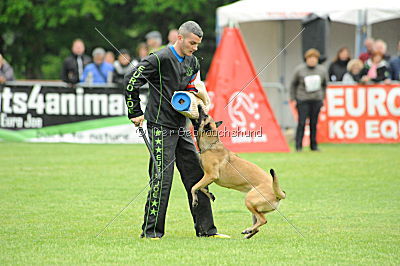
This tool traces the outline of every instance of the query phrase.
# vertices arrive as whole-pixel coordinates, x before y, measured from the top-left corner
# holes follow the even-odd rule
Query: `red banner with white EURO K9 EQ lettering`
[[[400,84],[330,85],[317,138],[333,143],[400,142]]]

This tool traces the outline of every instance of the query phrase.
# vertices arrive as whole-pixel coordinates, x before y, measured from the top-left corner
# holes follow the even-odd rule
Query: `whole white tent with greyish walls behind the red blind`
[[[282,118],[285,112],[282,102],[287,101],[287,95],[282,96],[282,91],[287,94],[292,71],[302,62],[301,35],[297,38],[295,36],[301,31],[301,20],[310,13],[328,15],[332,21],[325,65],[332,61],[343,46],[348,47],[353,56],[358,54],[362,33],[385,40],[389,54],[397,53],[397,42],[400,40],[400,1],[242,0],[219,7],[217,34],[222,33],[224,26],[238,25],[257,70],[261,70],[292,41],[259,76],[264,83],[274,82],[277,87],[281,84],[286,88],[266,88],[271,105],[283,126],[287,122]]]

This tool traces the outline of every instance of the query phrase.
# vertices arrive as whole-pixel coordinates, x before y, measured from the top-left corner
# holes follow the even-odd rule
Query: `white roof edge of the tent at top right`
[[[400,18],[400,1],[395,0],[242,0],[217,9],[218,26],[229,21],[299,20],[309,13],[328,14],[332,21],[357,25],[359,11],[366,11],[367,24]]]

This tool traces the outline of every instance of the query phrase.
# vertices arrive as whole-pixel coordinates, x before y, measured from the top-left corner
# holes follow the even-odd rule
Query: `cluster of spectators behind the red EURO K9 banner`
[[[351,84],[390,83],[392,80],[400,80],[400,41],[397,56],[390,56],[387,53],[387,45],[383,40],[369,38],[365,40],[364,45],[367,51],[354,59],[351,59],[347,47],[339,49],[329,65],[330,81]]]

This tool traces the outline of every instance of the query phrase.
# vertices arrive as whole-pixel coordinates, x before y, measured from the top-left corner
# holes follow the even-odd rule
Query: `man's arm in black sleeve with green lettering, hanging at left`
[[[125,75],[124,78],[128,117],[135,125],[141,125],[143,121],[143,111],[140,108],[139,88],[146,84],[152,75],[157,73],[157,68],[150,63],[152,57],[153,55],[142,60],[129,74]],[[149,88],[150,87],[151,86],[149,86]]]

